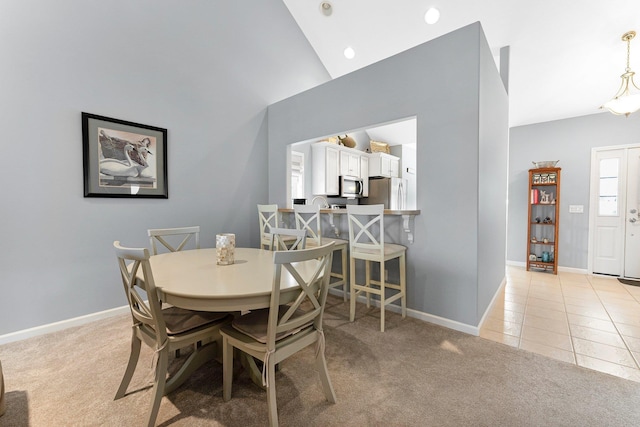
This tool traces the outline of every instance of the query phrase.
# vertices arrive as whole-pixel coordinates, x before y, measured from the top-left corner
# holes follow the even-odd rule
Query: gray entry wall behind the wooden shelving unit
[[[594,106],[594,110],[597,107]],[[527,254],[528,170],[532,161],[560,160],[559,267],[586,269],[589,237],[591,149],[640,143],[638,116],[599,113],[510,130],[507,260],[524,263]],[[583,214],[569,205],[584,205]]]

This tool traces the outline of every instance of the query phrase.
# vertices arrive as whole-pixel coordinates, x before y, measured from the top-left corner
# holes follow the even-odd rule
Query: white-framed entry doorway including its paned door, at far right
[[[591,158],[589,271],[640,279],[640,145]]]

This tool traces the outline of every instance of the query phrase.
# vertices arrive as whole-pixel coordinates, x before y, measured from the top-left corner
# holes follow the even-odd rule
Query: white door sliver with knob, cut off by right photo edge
[[[640,148],[627,153],[624,277],[640,279]]]

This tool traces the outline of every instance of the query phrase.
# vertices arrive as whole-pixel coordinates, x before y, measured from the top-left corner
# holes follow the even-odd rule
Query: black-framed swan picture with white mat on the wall
[[[84,197],[169,197],[167,130],[82,113]]]

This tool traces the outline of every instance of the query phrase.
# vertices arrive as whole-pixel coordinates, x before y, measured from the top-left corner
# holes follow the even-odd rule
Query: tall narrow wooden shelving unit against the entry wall
[[[527,271],[558,274],[561,168],[529,169]]]

